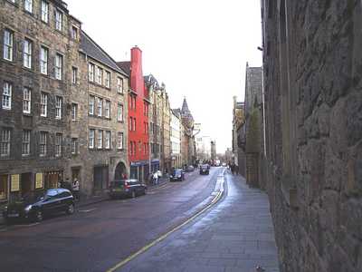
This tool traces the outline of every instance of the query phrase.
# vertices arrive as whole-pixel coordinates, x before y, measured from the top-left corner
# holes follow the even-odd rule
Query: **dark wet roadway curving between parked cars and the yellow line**
[[[0,231],[0,271],[106,271],[185,221],[214,190],[223,168],[198,171],[136,199],[105,201],[72,216]],[[150,270],[157,271],[157,270]]]

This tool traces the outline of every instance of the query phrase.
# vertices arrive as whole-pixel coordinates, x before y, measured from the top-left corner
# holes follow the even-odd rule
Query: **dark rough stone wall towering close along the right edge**
[[[262,0],[281,271],[362,271],[362,2]]]

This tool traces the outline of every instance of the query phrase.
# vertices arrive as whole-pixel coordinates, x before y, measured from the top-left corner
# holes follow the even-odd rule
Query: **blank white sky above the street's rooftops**
[[[143,52],[143,73],[165,83],[171,108],[186,100],[217,152],[232,146],[233,95],[245,64],[262,65],[260,0],[65,0],[82,29],[116,61]]]

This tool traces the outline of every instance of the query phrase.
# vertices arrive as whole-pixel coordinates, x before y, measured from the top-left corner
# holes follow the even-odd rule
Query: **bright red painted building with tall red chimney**
[[[147,180],[149,95],[142,73],[142,51],[135,46],[130,53],[130,62],[118,63],[123,71],[129,73],[129,177]]]

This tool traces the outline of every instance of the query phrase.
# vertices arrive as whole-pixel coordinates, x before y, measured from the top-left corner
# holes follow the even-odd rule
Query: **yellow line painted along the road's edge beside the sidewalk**
[[[129,257],[125,258],[124,260],[120,261],[116,266],[111,267],[110,269],[107,270],[107,272],[114,272],[117,269],[119,269],[120,267],[123,267],[124,265],[126,265],[129,261],[131,261],[132,259],[134,259],[135,257],[138,257],[140,254],[146,252],[149,248],[152,248],[153,246],[155,246],[157,243],[161,242],[162,240],[166,239],[169,235],[171,235],[172,233],[174,233],[176,230],[184,227],[185,225],[187,225],[188,223],[190,223],[192,220],[194,220],[195,218],[199,217],[200,215],[202,215],[203,213],[205,213],[205,211],[207,209],[210,209],[211,207],[214,206],[214,204],[216,204],[216,202],[218,200],[221,199],[223,195],[223,192],[218,191],[216,196],[214,197],[214,199],[211,201],[210,204],[208,204],[204,209],[201,209],[200,211],[198,211],[197,213],[195,213],[195,215],[193,215],[191,218],[186,219],[186,221],[184,223],[182,223],[181,225],[176,226],[175,228],[172,228],[170,231],[168,231],[167,233],[165,233],[164,235],[160,236],[159,238],[157,238],[156,240],[154,240],[153,242],[149,243],[147,246],[139,249],[137,252],[133,253],[132,255],[130,255]]]

